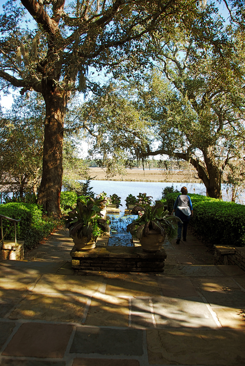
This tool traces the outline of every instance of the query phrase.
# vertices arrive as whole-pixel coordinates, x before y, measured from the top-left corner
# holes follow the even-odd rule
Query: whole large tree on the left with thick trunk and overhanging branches
[[[169,37],[176,24],[202,43],[219,40],[212,30],[215,11],[192,0],[13,0],[0,20],[0,77],[5,86],[35,90],[45,101],[42,180],[38,203],[59,215],[62,184],[64,116],[76,90],[96,91],[88,74],[128,70],[130,60],[147,64],[144,35],[157,31]],[[241,2],[242,4],[242,2]],[[241,5],[236,1],[235,5]],[[28,12],[27,16],[26,11]],[[240,14],[238,14],[239,18]],[[28,20],[30,19],[30,20]],[[217,38],[217,39],[216,39]],[[136,62],[137,63],[137,62]],[[130,72],[130,70],[129,70]],[[3,86],[4,86],[3,85]]]

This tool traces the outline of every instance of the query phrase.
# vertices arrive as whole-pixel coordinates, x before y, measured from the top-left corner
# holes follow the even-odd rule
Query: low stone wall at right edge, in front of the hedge
[[[236,264],[245,271],[245,247],[214,245],[214,264]]]

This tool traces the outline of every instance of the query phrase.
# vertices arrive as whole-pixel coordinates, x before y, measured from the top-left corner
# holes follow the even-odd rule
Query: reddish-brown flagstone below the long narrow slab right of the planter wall
[[[158,284],[162,288],[163,296],[198,296],[191,280],[188,277],[158,277]]]

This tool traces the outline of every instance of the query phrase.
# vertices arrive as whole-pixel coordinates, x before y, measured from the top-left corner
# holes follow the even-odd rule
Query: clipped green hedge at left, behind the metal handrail
[[[42,210],[32,203],[10,202],[0,205],[0,214],[21,221],[16,224],[17,240],[24,240],[24,249],[30,251],[57,226],[57,222],[42,215]],[[3,232],[10,228],[4,239],[14,239],[14,225],[3,219]]]

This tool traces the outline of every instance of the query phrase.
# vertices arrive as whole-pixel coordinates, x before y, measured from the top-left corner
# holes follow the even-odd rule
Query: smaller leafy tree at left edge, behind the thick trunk
[[[45,106],[41,98],[17,97],[0,119],[0,182],[37,193],[42,174]]]

